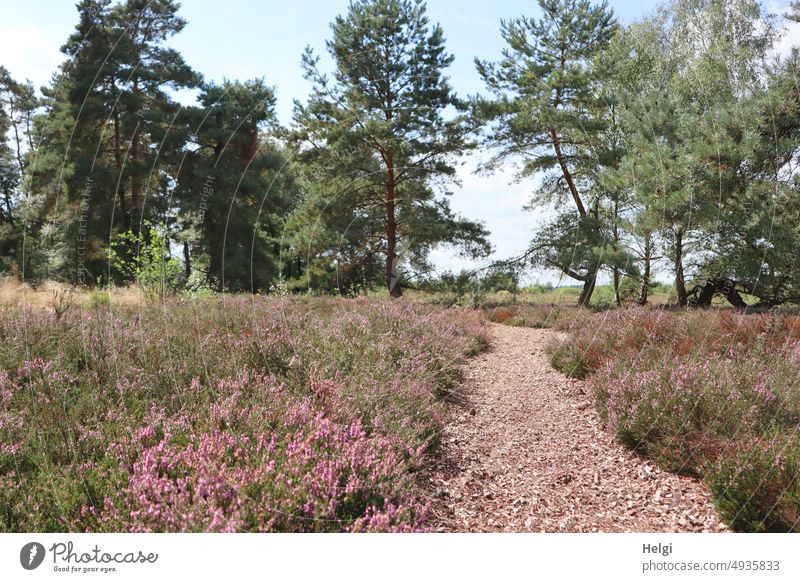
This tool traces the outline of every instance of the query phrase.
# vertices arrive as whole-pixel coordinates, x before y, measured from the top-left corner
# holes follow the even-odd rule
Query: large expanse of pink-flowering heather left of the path
[[[1,531],[424,528],[476,312],[221,296],[0,313]]]

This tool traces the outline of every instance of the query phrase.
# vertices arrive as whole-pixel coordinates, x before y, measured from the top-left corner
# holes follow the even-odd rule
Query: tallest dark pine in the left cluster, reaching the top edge
[[[31,226],[49,256],[45,276],[94,281],[108,271],[110,236],[167,213],[170,156],[188,139],[169,131],[180,109],[170,94],[199,80],[165,46],[185,25],[177,10],[170,0],[78,4],[68,60],[36,120]]]

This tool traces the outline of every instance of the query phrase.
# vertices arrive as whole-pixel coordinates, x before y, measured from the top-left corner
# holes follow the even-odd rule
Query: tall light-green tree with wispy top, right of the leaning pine
[[[681,306],[692,294],[687,281],[713,270],[701,266],[710,266],[705,258],[752,176],[753,97],[763,92],[773,40],[753,0],[675,0],[623,39],[622,165],[633,179],[641,234],[655,227]]]

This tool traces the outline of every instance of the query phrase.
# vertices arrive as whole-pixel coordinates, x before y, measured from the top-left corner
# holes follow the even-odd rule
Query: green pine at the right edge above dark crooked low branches
[[[763,94],[718,114],[714,129],[723,131],[714,135],[724,155],[714,156],[722,166],[715,174],[725,196],[694,289],[697,305],[721,294],[744,307],[741,293],[757,297],[757,307],[800,301],[798,56],[792,51],[768,71]],[[697,128],[698,136],[709,133]]]

